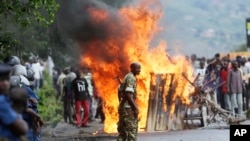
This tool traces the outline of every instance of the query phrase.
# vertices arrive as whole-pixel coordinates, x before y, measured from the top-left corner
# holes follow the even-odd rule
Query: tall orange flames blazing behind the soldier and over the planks
[[[179,86],[175,90],[173,100],[180,97],[183,103],[189,103],[189,84],[182,78],[182,73],[185,72],[191,78],[192,69],[185,57],[180,55],[170,60],[166,54],[165,42],[161,42],[156,47],[150,47],[150,41],[155,33],[161,30],[158,21],[162,16],[161,11],[150,8],[152,4],[155,5],[155,3],[144,3],[121,8],[116,15],[96,7],[87,8],[93,23],[104,23],[107,25],[105,30],[112,35],[100,40],[79,43],[81,47],[87,48],[82,55],[82,64],[92,69],[96,87],[105,102],[104,130],[107,133],[117,132],[119,83],[114,78],[119,76],[123,79],[130,71],[130,63],[134,61],[142,65],[137,87],[140,130],[146,127],[151,73],[178,75],[175,79],[179,82]],[[116,21],[112,20],[114,16]],[[163,108],[166,109],[166,107]],[[171,109],[174,109],[174,106]]]

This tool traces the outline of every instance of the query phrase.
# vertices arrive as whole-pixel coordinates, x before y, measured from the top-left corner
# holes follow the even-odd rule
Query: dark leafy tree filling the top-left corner
[[[46,46],[48,26],[53,23],[59,4],[56,0],[0,1],[0,59],[22,56]]]

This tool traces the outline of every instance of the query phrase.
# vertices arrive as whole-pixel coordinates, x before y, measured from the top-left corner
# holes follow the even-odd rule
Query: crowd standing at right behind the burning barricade
[[[190,58],[195,85],[214,103],[228,110],[231,116],[244,117],[250,107],[250,57],[216,53],[213,58]]]

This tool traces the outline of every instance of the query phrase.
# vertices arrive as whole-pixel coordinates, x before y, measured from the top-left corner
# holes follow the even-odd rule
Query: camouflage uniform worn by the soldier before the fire
[[[136,78],[132,72],[128,73],[124,78],[124,93],[132,92],[134,100],[136,99]],[[138,120],[134,116],[134,110],[129,102],[125,99],[125,95],[122,95],[122,100],[119,104],[118,113],[119,121],[117,130],[119,136],[117,141],[136,141]]]

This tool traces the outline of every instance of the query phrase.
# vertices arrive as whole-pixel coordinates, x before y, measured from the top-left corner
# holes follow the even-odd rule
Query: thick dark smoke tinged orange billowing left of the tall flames
[[[131,25],[117,8],[97,0],[64,0],[58,21],[59,30],[77,43],[81,57],[108,64],[127,58],[124,46]],[[115,42],[107,42],[111,40]]]

